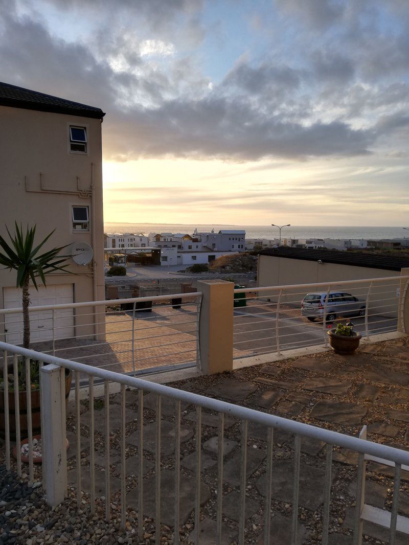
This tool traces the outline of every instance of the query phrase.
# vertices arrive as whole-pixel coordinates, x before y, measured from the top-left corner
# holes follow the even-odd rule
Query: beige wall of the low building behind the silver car
[[[351,265],[338,265],[335,263],[319,264],[315,261],[303,261],[302,259],[290,259],[284,257],[258,256],[257,286],[289,286],[292,284],[313,284],[321,282],[336,282],[345,280],[364,280],[365,278],[399,277],[400,272],[384,269],[371,269],[367,267],[354,267]],[[397,285],[397,284],[396,284]],[[398,303],[399,292],[395,283],[384,282],[371,288],[370,306],[376,312],[396,317],[395,305]],[[341,287],[341,286],[340,286]],[[336,288],[334,288],[336,289]],[[366,297],[368,286],[350,286],[345,289],[352,295]],[[324,288],[320,288],[325,291]],[[283,302],[298,302],[308,293],[308,288],[297,288],[286,292],[282,296]],[[266,298],[273,297],[277,292],[263,292]],[[386,301],[380,301],[380,299]]]

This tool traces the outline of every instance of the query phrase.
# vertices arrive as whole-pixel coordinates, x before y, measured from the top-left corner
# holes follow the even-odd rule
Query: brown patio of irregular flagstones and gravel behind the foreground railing
[[[308,358],[286,359],[274,365],[248,367],[220,376],[195,378],[171,384],[179,389],[202,393],[209,397],[234,402],[245,407],[290,419],[358,435],[364,424],[368,426],[368,439],[409,450],[409,348],[406,338],[383,342],[363,348],[353,356],[338,356],[332,352]],[[119,420],[116,412],[119,396],[112,396],[111,456],[115,456],[110,473],[111,492],[119,498]],[[144,397],[144,471],[145,508],[147,517],[154,517],[154,452],[155,452],[155,396]],[[136,393],[127,392],[127,501],[136,508],[137,459],[139,435],[137,432]],[[174,496],[174,403],[162,403],[161,464],[163,475],[163,523],[173,524]],[[103,413],[95,410],[98,421],[96,446],[99,453],[97,468],[103,475],[104,431]],[[101,414],[101,417],[99,416]],[[240,480],[240,423],[226,415],[224,439],[224,485],[217,490],[219,417],[203,410],[202,418],[202,496],[200,543],[213,543],[216,520],[215,501],[223,494],[223,543],[234,543],[238,534],[238,503]],[[69,419],[69,429],[74,431],[74,419]],[[187,534],[194,528],[194,482],[196,476],[195,433],[196,413],[193,405],[182,405],[181,419],[181,523]],[[89,463],[88,409],[83,403],[81,414],[82,464]],[[74,436],[75,437],[75,436]],[[248,459],[246,487],[246,542],[263,543],[264,494],[266,481],[266,428],[256,424],[248,427]],[[300,460],[299,543],[320,543],[323,479],[326,449],[319,441],[303,439]],[[275,542],[289,543],[291,525],[293,437],[274,431],[273,453],[272,536]],[[70,463],[74,459],[70,458]],[[333,545],[352,543],[354,490],[356,488],[357,456],[334,447],[333,486],[330,512],[330,540]],[[392,477],[390,468],[369,463],[366,472],[366,502],[390,510],[392,502]],[[89,486],[87,472],[83,471],[83,486]],[[70,473],[75,482],[75,468]],[[101,477],[100,481],[103,481]],[[402,474],[400,513],[409,514],[409,475]],[[104,493],[103,482],[98,493]],[[115,498],[115,496],[113,496]],[[114,501],[114,500],[112,500]],[[365,524],[366,543],[387,543],[386,530]],[[280,536],[280,537],[278,537]],[[191,534],[193,539],[193,534]],[[277,541],[278,539],[278,541]],[[398,535],[396,543],[403,545],[408,539]]]

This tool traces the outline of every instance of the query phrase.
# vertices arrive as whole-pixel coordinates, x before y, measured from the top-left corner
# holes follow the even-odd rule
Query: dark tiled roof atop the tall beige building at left
[[[87,106],[79,102],[60,99],[58,96],[38,93],[10,83],[0,82],[0,106],[39,110],[41,112],[64,113],[71,116],[92,117],[102,119],[105,113],[101,108]]]

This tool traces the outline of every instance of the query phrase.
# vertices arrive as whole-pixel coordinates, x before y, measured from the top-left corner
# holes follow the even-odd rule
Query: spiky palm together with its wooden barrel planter
[[[10,271],[17,272],[16,287],[22,290],[22,314],[23,314],[23,347],[30,348],[30,319],[29,305],[30,293],[29,290],[34,287],[38,291],[38,281],[46,286],[46,276],[54,271],[66,271],[67,259],[71,256],[59,255],[60,252],[67,246],[54,247],[51,250],[40,252],[43,246],[47,243],[52,231],[39,244],[35,242],[35,225],[26,231],[23,231],[15,222],[15,233],[12,235],[6,227],[10,238],[10,243],[0,236],[0,265]],[[30,285],[32,282],[32,286]],[[40,422],[40,366],[39,362],[30,360],[28,368],[26,359],[19,356],[17,361],[17,378],[19,389],[19,412],[20,412],[20,437],[24,438],[28,435],[27,422],[27,399],[31,399],[31,416],[32,416],[32,432],[33,435],[41,431]],[[28,379],[28,380],[27,380]],[[8,406],[9,406],[9,429],[10,439],[16,440],[16,417],[15,417],[15,383],[14,383],[14,362],[11,361],[7,365],[7,375],[0,378],[0,388],[4,390],[4,381],[8,384]],[[27,382],[29,381],[29,384]],[[71,386],[71,373],[65,377],[65,397],[68,399]],[[28,393],[30,392],[30,393]],[[0,395],[0,437],[5,437],[5,414],[4,414],[5,396]],[[27,440],[26,440],[27,441]],[[23,443],[24,441],[22,441]]]

